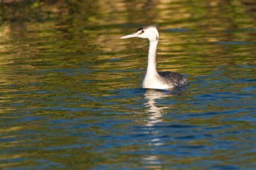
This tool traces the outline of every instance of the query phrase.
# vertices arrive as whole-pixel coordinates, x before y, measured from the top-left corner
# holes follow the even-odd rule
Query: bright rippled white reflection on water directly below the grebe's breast
[[[171,97],[174,94],[170,91],[162,91],[158,89],[147,89],[146,93],[144,94],[145,99],[147,99],[145,105],[149,108],[148,112],[148,119],[146,126],[154,126],[154,124],[158,122],[162,122],[162,116],[164,111],[169,107],[160,107],[157,106],[157,99],[164,99],[166,97]]]

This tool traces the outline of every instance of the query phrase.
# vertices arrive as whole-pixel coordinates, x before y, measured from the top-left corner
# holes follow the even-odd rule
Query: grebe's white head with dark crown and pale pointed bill
[[[129,34],[127,36],[122,36],[121,38],[133,38],[133,37],[139,37],[139,38],[148,38],[150,42],[155,42],[159,38],[158,30],[156,29],[156,26],[145,26],[137,29],[136,32]]]

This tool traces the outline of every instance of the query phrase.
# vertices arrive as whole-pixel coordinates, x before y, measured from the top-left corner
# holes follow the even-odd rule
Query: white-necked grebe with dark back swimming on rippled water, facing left
[[[155,25],[143,26],[134,33],[121,38],[146,38],[150,42],[148,50],[148,65],[145,77],[141,83],[143,89],[174,89],[189,83],[186,77],[171,71],[158,72],[156,68],[156,50],[159,33]]]

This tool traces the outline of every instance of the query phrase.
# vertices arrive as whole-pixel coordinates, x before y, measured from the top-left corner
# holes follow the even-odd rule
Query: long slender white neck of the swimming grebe
[[[158,75],[156,69],[156,48],[158,46],[158,40],[150,42],[150,49],[148,50],[148,67],[146,71],[146,77],[154,77]]]

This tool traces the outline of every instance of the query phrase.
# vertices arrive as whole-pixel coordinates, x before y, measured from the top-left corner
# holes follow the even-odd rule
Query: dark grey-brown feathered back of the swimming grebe
[[[159,72],[158,74],[164,79],[164,81],[166,81],[166,83],[170,83],[174,87],[183,87],[189,83],[189,81],[179,73],[164,71]]]

